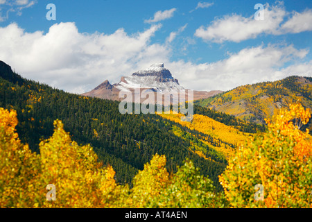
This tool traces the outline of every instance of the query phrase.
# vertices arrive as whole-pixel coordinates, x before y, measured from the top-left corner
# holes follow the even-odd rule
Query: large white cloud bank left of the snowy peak
[[[75,24],[60,23],[44,34],[10,24],[0,28],[0,60],[28,79],[82,93],[105,79],[116,83],[155,61],[167,62],[170,49],[150,44],[159,28],[153,25],[135,35],[119,28],[106,35],[79,33]]]

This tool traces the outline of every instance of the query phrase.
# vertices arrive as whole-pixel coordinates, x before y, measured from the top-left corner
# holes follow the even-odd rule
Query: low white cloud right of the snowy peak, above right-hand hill
[[[167,65],[180,84],[191,89],[229,90],[240,85],[279,80],[287,76],[312,76],[312,61],[300,63],[308,49],[293,45],[263,45],[229,53],[218,62],[194,64],[182,60]],[[287,62],[295,65],[284,67]]]

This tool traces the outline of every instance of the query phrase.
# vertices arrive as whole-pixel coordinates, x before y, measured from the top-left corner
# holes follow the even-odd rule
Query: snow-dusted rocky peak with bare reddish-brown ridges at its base
[[[179,84],[179,81],[171,75],[171,72],[164,68],[164,63],[156,63],[148,67],[147,69],[136,71],[131,76],[123,76],[119,83],[114,85],[110,84],[108,80],[92,89],[90,92],[82,94],[83,96],[92,96],[101,99],[110,99],[121,101],[123,98],[119,98],[120,92],[131,93],[132,101],[135,99],[135,89],[139,89],[139,92],[153,92],[154,99],[141,99],[141,103],[155,103],[157,99],[157,93],[166,95],[177,92],[177,96],[180,96],[180,91],[184,89]],[[187,92],[187,90],[186,90]],[[220,90],[214,91],[196,91],[193,90],[193,100],[205,99],[210,96],[219,94]],[[187,97],[187,96],[186,96]],[[186,98],[188,101],[189,99]]]

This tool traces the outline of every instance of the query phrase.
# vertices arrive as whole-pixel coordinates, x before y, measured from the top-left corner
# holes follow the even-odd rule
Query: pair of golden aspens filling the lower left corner
[[[15,133],[16,112],[0,108],[0,115],[1,207],[116,207],[123,200],[128,187],[116,185],[114,170],[101,167],[91,146],[71,141],[61,121],[37,155]],[[50,184],[55,201],[46,201]]]

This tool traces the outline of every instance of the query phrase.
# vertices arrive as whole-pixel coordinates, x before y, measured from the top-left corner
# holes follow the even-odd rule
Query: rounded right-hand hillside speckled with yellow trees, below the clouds
[[[264,123],[279,108],[301,101],[304,108],[312,108],[312,78],[290,76],[275,82],[264,82],[236,87],[195,104],[239,119]]]

